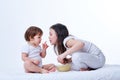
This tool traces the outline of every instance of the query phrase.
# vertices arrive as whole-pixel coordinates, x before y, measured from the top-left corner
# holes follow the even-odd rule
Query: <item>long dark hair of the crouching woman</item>
[[[57,23],[52,25],[50,28],[55,30],[57,35],[57,44],[54,45],[54,51],[57,53],[56,49],[58,50],[58,54],[62,54],[66,51],[66,48],[63,45],[63,40],[69,35],[68,29],[65,25]]]

